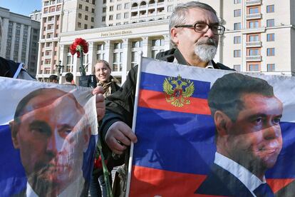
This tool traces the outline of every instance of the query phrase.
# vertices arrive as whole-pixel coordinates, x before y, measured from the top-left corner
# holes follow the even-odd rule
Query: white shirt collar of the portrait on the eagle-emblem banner
[[[227,158],[226,156],[223,156],[220,153],[215,153],[214,163],[224,168],[224,170],[229,171],[229,173],[232,173],[232,175],[234,175],[235,177],[237,177],[239,181],[241,181],[244,184],[244,186],[246,186],[249,189],[253,196],[255,196],[253,191],[256,188],[258,188],[262,183],[266,183],[265,177],[263,177],[263,181],[260,181],[260,179],[253,173],[248,171],[247,168],[244,168],[244,166],[239,165],[239,163],[233,161],[230,158]]]

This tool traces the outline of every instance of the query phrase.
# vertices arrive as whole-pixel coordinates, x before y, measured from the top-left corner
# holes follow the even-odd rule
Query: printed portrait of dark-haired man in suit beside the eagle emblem
[[[274,196],[265,172],[282,148],[283,105],[264,79],[226,74],[208,96],[216,126],[217,152],[195,193],[217,196]]]

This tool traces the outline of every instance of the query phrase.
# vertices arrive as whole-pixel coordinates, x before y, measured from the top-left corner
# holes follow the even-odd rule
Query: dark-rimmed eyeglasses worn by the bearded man
[[[223,35],[225,30],[225,27],[219,24],[205,24],[200,22],[192,25],[176,25],[175,27],[193,28],[196,32],[202,34],[205,34],[209,29],[211,29],[214,35]]]

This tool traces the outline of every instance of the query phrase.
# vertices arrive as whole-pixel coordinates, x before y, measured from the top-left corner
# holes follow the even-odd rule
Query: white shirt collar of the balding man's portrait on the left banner
[[[70,186],[68,186],[63,192],[58,194],[58,197],[63,197],[63,196],[81,196],[83,186],[84,186],[84,178],[81,175],[80,178],[77,178],[76,181],[71,183]],[[80,188],[80,189],[77,189]],[[33,188],[31,188],[29,182],[26,182],[26,197],[39,197],[35,191],[33,191]],[[40,196],[42,197],[42,196]]]

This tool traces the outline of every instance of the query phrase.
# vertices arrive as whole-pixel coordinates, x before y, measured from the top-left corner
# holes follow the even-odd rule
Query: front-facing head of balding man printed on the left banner
[[[16,196],[80,196],[91,128],[75,96],[59,89],[32,91],[19,102],[10,126],[28,181]]]

